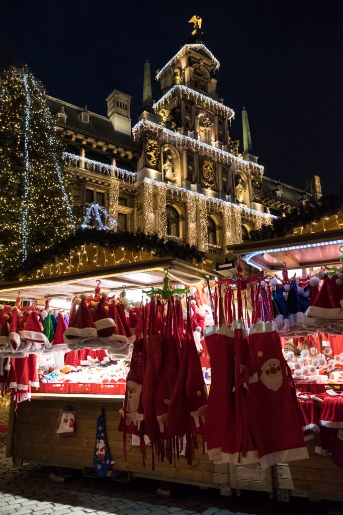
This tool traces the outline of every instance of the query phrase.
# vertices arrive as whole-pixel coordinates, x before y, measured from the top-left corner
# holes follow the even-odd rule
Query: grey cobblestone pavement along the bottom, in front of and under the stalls
[[[0,408],[0,424],[6,424],[7,417]],[[77,472],[65,483],[55,483],[48,477],[53,469],[13,467],[5,457],[6,436],[0,433],[0,515],[343,515],[340,503],[278,503],[262,492],[222,497],[218,490],[185,485],[173,486],[172,497],[178,500],[166,501],[156,497],[160,483],[147,479],[124,484]]]

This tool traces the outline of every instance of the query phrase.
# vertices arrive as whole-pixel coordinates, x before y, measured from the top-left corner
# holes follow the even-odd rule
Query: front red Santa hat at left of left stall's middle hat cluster
[[[81,302],[79,308],[64,332],[64,341],[68,343],[82,342],[96,338],[97,331],[93,323],[92,315],[85,303],[87,295],[80,295]],[[77,299],[75,300],[75,304]]]

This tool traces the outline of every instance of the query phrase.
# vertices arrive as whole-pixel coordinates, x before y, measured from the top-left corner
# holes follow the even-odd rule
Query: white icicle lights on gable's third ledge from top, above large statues
[[[259,164],[245,161],[244,159],[234,156],[230,152],[213,147],[212,145],[208,145],[202,141],[195,140],[194,138],[190,138],[184,134],[173,132],[162,125],[158,125],[155,122],[150,122],[146,119],[142,119],[133,127],[133,139],[137,141],[139,136],[145,131],[152,132],[157,136],[157,138],[161,138],[161,140],[165,141],[165,143],[174,144],[177,147],[181,147],[183,150],[199,152],[201,155],[219,161],[220,163],[224,163],[227,166],[234,165],[238,169],[244,170],[248,173],[256,170],[263,175],[264,167]]]

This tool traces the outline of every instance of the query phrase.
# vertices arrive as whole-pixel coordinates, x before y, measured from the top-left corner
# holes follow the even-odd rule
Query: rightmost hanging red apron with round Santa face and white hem
[[[246,383],[248,419],[261,467],[308,458],[295,386],[274,322],[251,325]]]

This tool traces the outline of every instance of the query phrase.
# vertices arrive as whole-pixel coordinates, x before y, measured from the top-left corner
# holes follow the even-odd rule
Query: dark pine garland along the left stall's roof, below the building
[[[173,239],[159,238],[157,234],[145,234],[143,232],[109,232],[98,229],[77,229],[68,237],[61,239],[57,244],[49,249],[40,252],[30,251],[24,263],[12,266],[4,272],[5,281],[14,281],[21,276],[42,269],[47,263],[52,263],[55,259],[62,260],[70,255],[73,250],[80,249],[82,245],[98,245],[105,249],[115,251],[121,249],[130,251],[140,251],[144,249],[154,252],[156,256],[178,258],[182,261],[191,263],[201,263],[203,252],[197,250],[196,246],[181,244]]]

